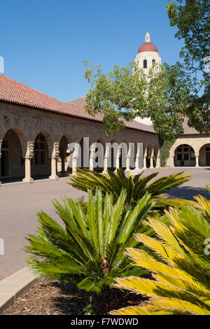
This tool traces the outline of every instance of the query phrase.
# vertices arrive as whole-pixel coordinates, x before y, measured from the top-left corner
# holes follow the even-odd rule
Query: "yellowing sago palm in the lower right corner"
[[[128,248],[127,255],[137,267],[150,271],[154,280],[131,276],[116,279],[114,286],[143,293],[151,300],[112,314],[210,315],[210,201],[201,196],[195,199],[196,208],[170,209],[170,227],[149,219],[158,240],[135,235],[146,250]]]

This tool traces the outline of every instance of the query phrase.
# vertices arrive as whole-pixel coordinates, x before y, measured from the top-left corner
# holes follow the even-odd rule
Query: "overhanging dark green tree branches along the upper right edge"
[[[195,87],[191,102],[186,106],[188,125],[199,132],[209,133],[209,1],[169,1],[167,13],[170,24],[178,29],[176,38],[183,38],[185,42],[180,52],[182,71],[191,78]]]

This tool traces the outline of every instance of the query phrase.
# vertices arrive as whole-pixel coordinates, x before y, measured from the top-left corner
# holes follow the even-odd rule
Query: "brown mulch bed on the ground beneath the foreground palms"
[[[110,290],[109,290],[110,291]],[[110,293],[109,293],[110,294]],[[106,294],[107,295],[107,294]],[[97,314],[106,315],[113,309],[137,305],[145,299],[125,290],[112,289],[110,298],[92,300]],[[22,294],[1,315],[80,315],[90,304],[90,294],[78,290],[76,284],[41,279]]]

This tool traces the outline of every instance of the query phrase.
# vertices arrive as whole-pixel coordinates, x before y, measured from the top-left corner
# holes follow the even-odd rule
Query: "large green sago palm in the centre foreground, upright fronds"
[[[87,208],[83,202],[64,198],[54,205],[63,228],[43,211],[38,213],[38,235],[28,235],[33,254],[27,262],[34,272],[50,279],[74,281],[78,288],[100,293],[116,276],[142,276],[145,269],[134,268],[125,256],[125,248],[137,246],[133,237],[141,220],[152,209],[154,201],[146,193],[134,209],[125,208],[123,190],[116,203],[113,195],[97,189],[88,190]]]

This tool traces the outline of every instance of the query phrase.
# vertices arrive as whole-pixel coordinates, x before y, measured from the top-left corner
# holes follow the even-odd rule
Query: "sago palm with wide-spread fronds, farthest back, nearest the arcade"
[[[113,193],[114,202],[118,200],[123,189],[126,190],[127,196],[125,202],[127,204],[136,203],[146,192],[150,193],[152,197],[158,197],[162,193],[166,193],[171,188],[180,186],[182,183],[190,180],[190,174],[183,174],[183,172],[176,172],[169,176],[161,177],[151,183],[151,180],[158,175],[155,172],[148,176],[125,176],[123,168],[117,169],[114,173],[108,170],[107,174],[99,174],[90,169],[77,169],[76,174],[71,174],[68,182],[73,188],[87,192],[91,189],[95,193],[97,186],[102,189],[103,196],[107,192]]]

